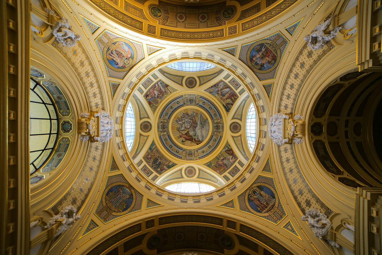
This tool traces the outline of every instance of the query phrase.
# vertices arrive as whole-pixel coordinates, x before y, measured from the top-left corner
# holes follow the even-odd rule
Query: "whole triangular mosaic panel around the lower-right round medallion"
[[[256,181],[238,196],[241,211],[254,214],[277,224],[286,213],[278,197],[273,178],[259,176]]]

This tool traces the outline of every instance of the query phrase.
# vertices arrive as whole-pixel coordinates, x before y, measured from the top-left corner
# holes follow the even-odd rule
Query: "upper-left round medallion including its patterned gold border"
[[[127,39],[115,38],[104,47],[103,57],[106,65],[117,72],[128,71],[137,60],[134,45]]]

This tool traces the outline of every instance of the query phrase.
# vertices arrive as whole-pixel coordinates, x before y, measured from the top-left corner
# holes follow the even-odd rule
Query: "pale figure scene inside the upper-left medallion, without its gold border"
[[[116,68],[126,68],[132,65],[134,54],[125,42],[116,42],[107,49],[107,60]]]

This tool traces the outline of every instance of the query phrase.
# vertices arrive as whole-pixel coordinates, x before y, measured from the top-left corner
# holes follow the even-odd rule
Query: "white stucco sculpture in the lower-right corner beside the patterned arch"
[[[309,209],[305,212],[304,216],[301,216],[301,219],[308,222],[310,229],[319,239],[327,240],[333,247],[340,248],[339,244],[325,237],[329,234],[332,223],[324,213],[317,209]]]

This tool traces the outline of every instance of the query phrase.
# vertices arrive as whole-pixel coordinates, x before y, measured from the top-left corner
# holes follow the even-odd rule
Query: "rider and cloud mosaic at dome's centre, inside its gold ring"
[[[191,141],[196,145],[199,145],[206,140],[210,124],[206,118],[203,118],[202,113],[197,115],[196,112],[192,112],[191,114],[184,112],[181,117],[178,117],[175,120],[175,122],[179,124],[177,130],[179,136],[184,139],[182,142]]]

